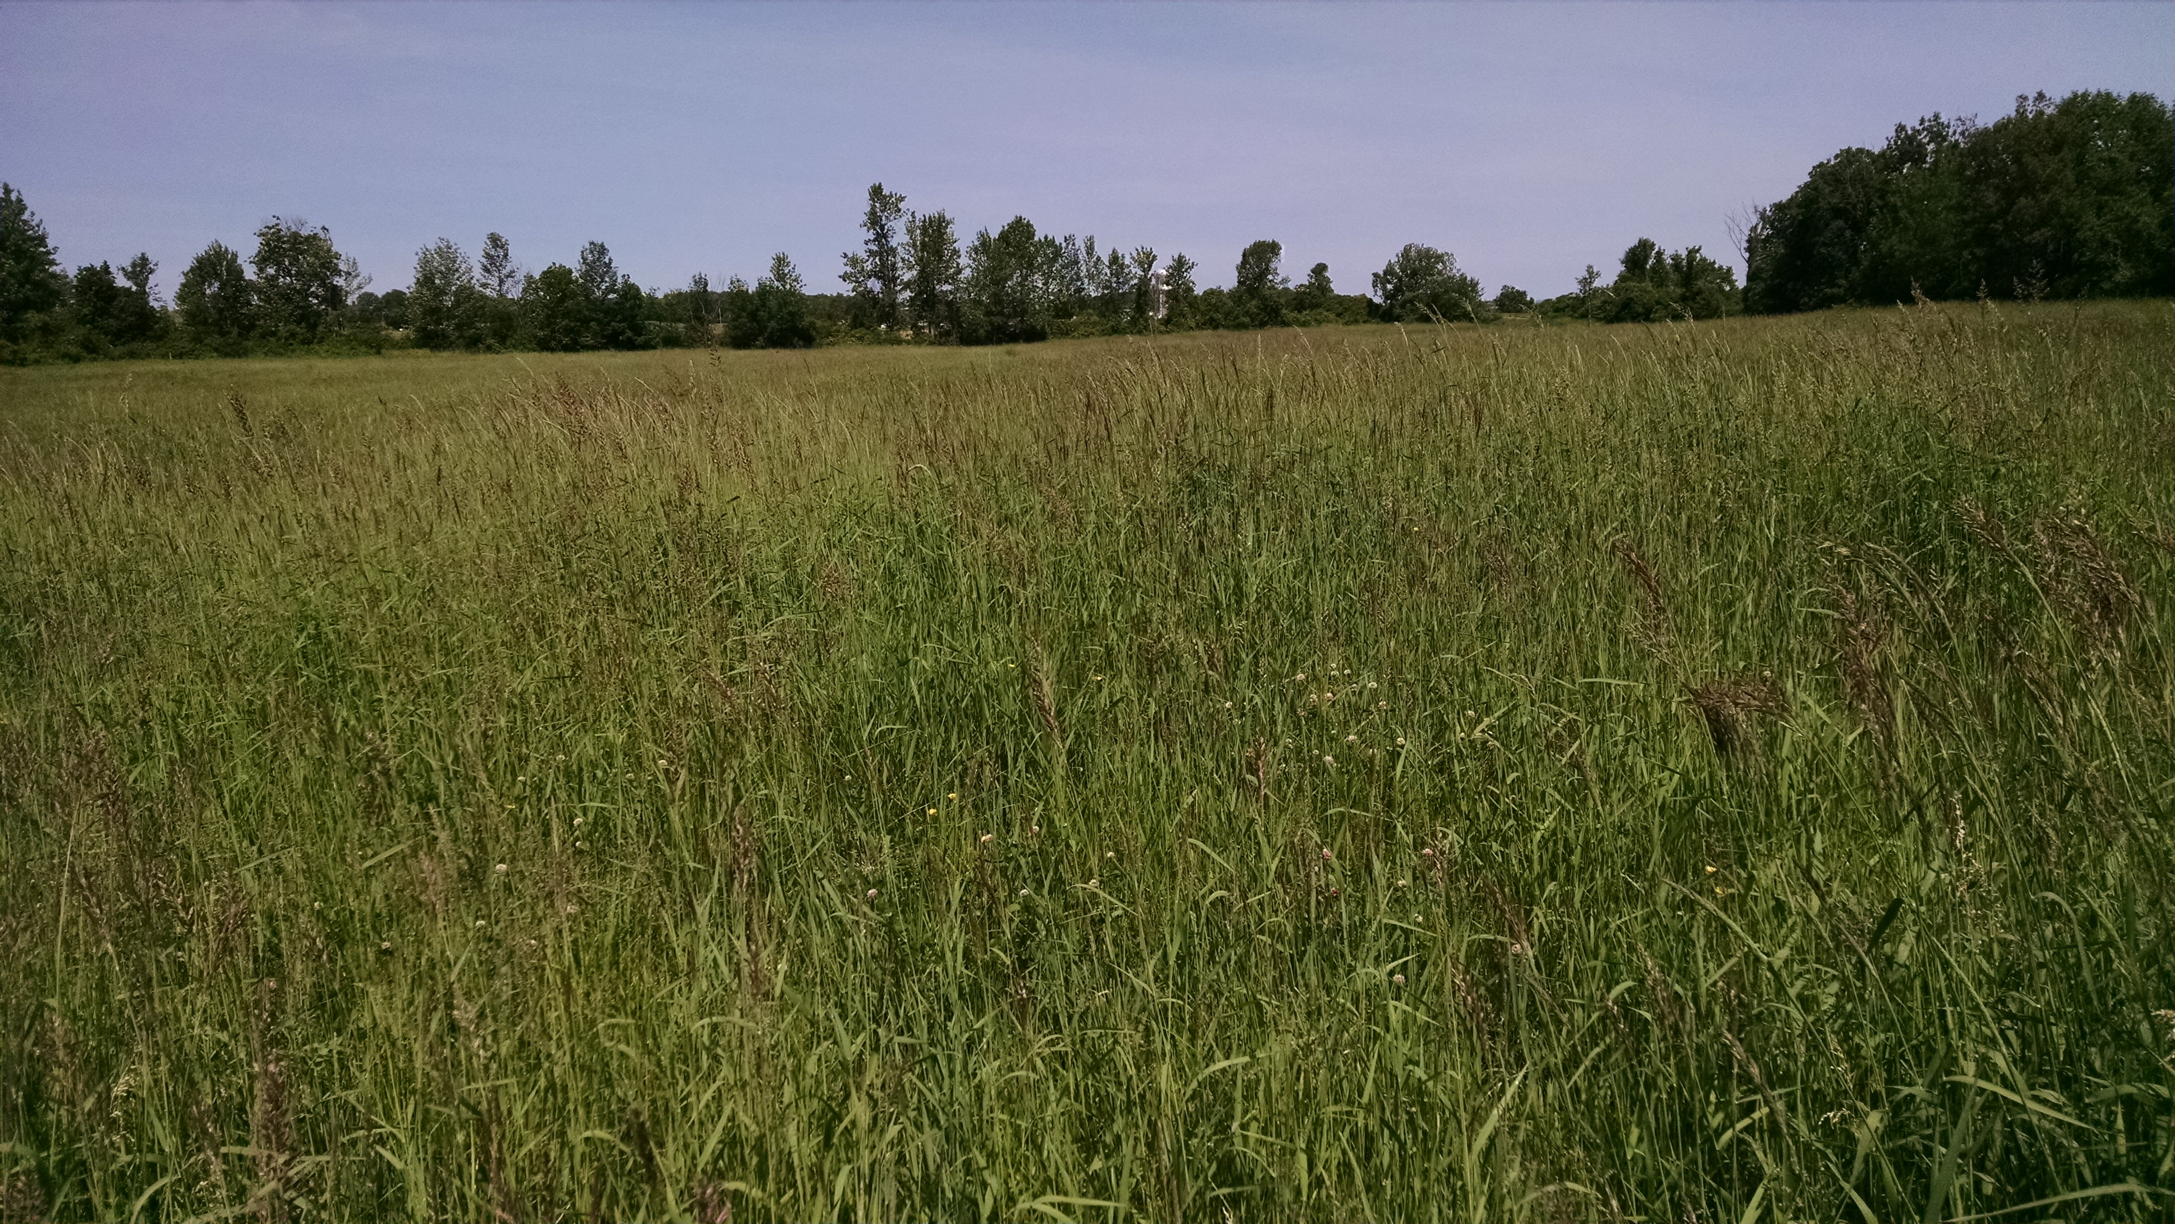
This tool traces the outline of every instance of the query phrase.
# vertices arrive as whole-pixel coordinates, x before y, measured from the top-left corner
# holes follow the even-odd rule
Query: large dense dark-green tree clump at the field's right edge
[[[2018,98],[1847,148],[1747,235],[1747,307],[2175,291],[2175,111],[2149,93]]]

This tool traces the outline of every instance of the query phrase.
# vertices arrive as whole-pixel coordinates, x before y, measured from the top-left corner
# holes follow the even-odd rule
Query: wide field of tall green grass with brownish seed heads
[[[2166,302],[0,394],[9,1220],[2175,1215]]]

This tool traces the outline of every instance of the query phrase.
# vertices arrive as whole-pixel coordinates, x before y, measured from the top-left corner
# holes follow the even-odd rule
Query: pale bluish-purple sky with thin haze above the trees
[[[2044,89],[2175,96],[2168,4],[0,4],[0,178],[70,265],[161,289],[274,213],[376,276],[505,233],[650,287],[794,257],[870,180],[964,233],[1183,250],[1275,237],[1338,287],[1407,241],[1559,293],[1847,143]]]

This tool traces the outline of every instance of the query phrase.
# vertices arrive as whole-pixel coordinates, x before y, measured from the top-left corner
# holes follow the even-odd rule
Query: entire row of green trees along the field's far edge
[[[959,237],[940,211],[870,185],[844,293],[809,293],[772,257],[748,285],[644,289],[592,241],[526,272],[492,233],[470,259],[439,239],[407,289],[372,293],[333,235],[272,217],[257,248],[213,241],[172,302],[137,254],[65,274],[44,224],[0,185],[0,359],[254,352],[631,350],[672,346],[1020,344],[1051,337],[1351,322],[1668,322],[1912,298],[2086,298],[2175,291],[2175,120],[2149,93],[2044,93],[1979,126],[1931,115],[1881,150],[1847,148],[1742,228],[1747,283],[1699,246],[1638,239],[1612,280],[1594,265],[1549,300],[1481,283],[1442,248],[1407,243],[1340,293],[1327,263],[1283,272],[1283,243],[1248,243],[1231,287],[1198,287],[1188,254],[1051,235],[1027,217]]]

